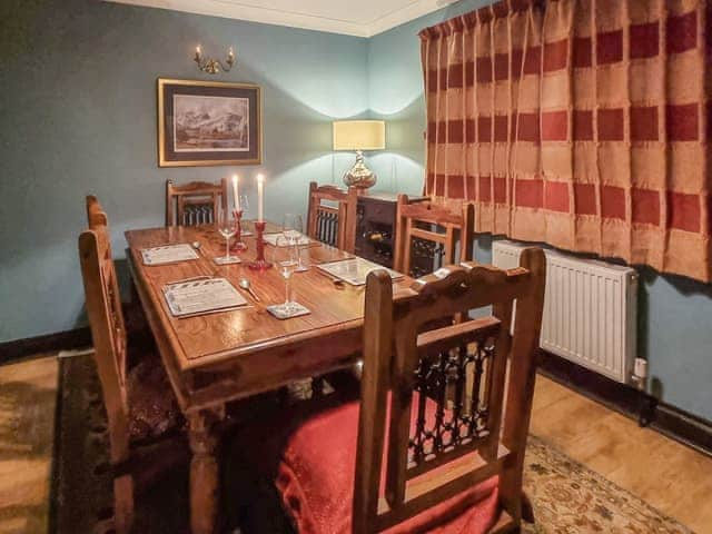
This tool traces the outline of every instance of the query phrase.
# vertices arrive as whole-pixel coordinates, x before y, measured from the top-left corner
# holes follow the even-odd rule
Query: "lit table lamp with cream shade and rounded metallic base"
[[[348,187],[367,189],[376,184],[376,175],[364,162],[364,150],[386,148],[386,123],[383,120],[334,121],[334,150],[356,150],[356,162],[344,175]]]

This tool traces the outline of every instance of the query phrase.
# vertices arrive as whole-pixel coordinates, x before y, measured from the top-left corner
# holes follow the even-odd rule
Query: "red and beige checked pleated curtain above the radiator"
[[[710,28],[705,0],[508,0],[423,30],[426,192],[710,281]]]

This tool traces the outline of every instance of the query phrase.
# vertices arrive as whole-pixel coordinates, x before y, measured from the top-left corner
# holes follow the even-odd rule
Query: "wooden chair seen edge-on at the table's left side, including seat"
[[[92,228],[79,236],[79,259],[113,469],[115,514],[106,526],[123,533],[131,526],[135,486],[142,488],[161,468],[187,459],[188,451],[185,441],[160,441],[172,436],[181,416],[158,357],[142,355],[127,370],[127,334],[107,217],[93,197],[87,198],[87,211]]]

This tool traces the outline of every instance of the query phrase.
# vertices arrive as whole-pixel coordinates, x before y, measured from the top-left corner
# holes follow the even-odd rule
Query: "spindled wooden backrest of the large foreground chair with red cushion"
[[[544,253],[527,248],[516,269],[448,266],[395,298],[385,271],[368,275],[354,532],[385,530],[494,475],[500,504],[518,522],[545,270]],[[488,305],[490,317],[423,332]],[[447,475],[412,484],[438,467]]]

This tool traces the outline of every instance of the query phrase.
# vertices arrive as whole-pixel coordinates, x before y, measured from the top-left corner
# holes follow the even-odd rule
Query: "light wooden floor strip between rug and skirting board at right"
[[[712,534],[712,457],[541,375],[531,432],[698,534]]]

